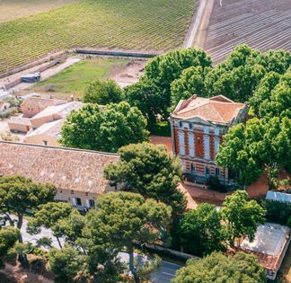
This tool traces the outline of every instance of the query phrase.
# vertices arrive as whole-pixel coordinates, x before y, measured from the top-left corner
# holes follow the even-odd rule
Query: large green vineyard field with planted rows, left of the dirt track
[[[0,23],[0,73],[59,49],[181,47],[196,1],[82,0]]]

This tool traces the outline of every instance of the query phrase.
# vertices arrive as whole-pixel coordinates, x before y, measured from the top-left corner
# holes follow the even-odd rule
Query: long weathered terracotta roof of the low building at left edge
[[[0,175],[20,174],[61,190],[105,192],[104,167],[118,160],[101,152],[0,142]]]

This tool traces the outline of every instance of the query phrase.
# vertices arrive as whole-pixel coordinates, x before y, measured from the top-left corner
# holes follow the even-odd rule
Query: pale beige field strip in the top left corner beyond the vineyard
[[[0,22],[49,11],[78,0],[0,0]]]

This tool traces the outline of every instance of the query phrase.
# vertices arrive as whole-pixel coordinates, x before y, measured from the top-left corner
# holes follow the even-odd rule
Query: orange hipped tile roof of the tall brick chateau
[[[172,115],[181,119],[198,116],[212,122],[228,123],[245,106],[246,104],[233,102],[223,95],[212,98],[193,95],[189,100],[180,102]]]

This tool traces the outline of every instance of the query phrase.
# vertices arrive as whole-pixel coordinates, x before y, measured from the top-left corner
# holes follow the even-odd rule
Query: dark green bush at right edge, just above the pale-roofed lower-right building
[[[267,221],[287,226],[291,216],[291,203],[270,199],[262,199],[260,202],[267,210]]]

